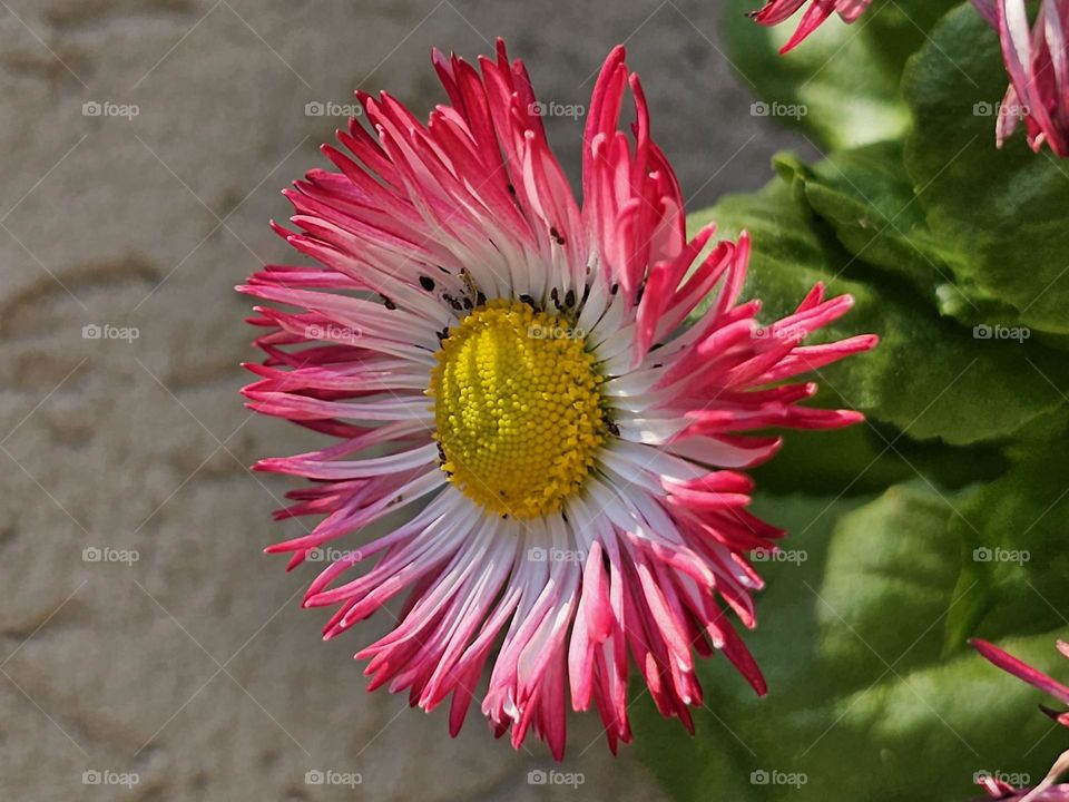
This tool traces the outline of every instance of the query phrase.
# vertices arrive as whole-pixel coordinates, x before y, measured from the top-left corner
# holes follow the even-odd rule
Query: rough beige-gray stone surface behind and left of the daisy
[[[286,258],[266,226],[288,212],[278,189],[324,164],[337,125],[305,104],[388,87],[425,111],[441,99],[431,45],[474,56],[504,36],[545,99],[585,104],[626,40],[696,205],[759,186],[796,143],[748,115],[719,3],[0,7],[0,799],[659,799],[591,716],[572,720],[561,766],[585,774],[577,792],[530,785],[546,751],[514,754],[478,715],[453,741],[444,712],[367,694],[351,655],[385,616],[320,642],[325,613],[297,607],[314,567],[261,554],[298,530],[268,516],[287,483],[245,468],[312,436],[242,407],[254,354],[231,287]],[[550,128],[575,175],[580,124]],[[92,324],[139,336],[85,339]],[[363,782],[312,785],[312,770]]]

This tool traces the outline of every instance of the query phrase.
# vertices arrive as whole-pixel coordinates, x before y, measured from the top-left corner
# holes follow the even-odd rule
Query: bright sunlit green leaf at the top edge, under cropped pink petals
[[[778,50],[800,17],[765,28],[746,16],[761,0],[729,0],[724,26],[732,63],[762,99],[752,114],[801,128],[823,147],[853,147],[905,131],[903,63],[958,1],[876,0],[852,26],[833,16],[786,56]]]

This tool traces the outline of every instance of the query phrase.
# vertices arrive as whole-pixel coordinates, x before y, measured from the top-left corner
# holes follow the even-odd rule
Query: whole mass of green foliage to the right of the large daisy
[[[766,102],[805,104],[779,121],[830,153],[777,156],[768,186],[692,226],[751,233],[744,295],[767,320],[820,281],[856,303],[817,342],[882,342],[813,376],[817,404],[867,422],[786,433],[755,472],[755,511],[794,556],[757,564],[746,639],[768,696],[715,658],[698,736],[638,703],[640,754],[678,800],[965,800],[978,771],[1037,781],[1066,747],[1036,710],[1048,700],[967,642],[1069,678],[1053,648],[1069,630],[1069,160],[1021,135],[994,147],[1007,77],[969,3],[876,0],[787,57],[791,23],[744,18],[759,4],[729,1],[732,58]]]

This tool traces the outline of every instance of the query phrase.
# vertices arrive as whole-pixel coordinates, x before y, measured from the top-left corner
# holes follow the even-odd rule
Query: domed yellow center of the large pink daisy
[[[497,299],[449,330],[428,394],[441,468],[501,516],[559,510],[601,444],[602,378],[581,332],[526,303]]]

